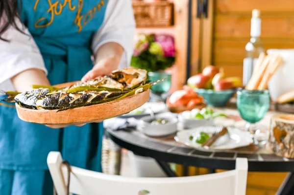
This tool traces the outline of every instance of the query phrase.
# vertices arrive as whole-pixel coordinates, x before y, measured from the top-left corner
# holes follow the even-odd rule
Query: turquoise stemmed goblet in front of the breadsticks
[[[237,108],[241,117],[247,122],[246,130],[253,136],[254,144],[258,144],[256,138],[260,130],[255,125],[264,118],[270,108],[270,93],[268,90],[237,91]]]

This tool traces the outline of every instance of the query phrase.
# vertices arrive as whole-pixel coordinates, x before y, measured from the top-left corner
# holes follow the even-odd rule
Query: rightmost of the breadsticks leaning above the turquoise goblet
[[[264,90],[268,88],[268,83],[270,81],[273,73],[283,64],[283,59],[280,56],[275,56],[270,64],[267,67],[264,77],[262,78],[260,85],[258,86],[258,90]]]

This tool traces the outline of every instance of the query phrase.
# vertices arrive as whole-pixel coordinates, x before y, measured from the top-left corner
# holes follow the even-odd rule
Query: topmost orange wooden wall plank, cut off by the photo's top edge
[[[294,12],[294,0],[216,0],[217,13],[249,13],[260,9],[262,13]]]

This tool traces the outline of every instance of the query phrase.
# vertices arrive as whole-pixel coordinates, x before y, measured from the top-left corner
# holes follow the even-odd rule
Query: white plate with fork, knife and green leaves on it
[[[253,143],[252,136],[249,132],[239,130],[237,128],[227,127],[229,131],[229,136],[221,136],[217,141],[209,148],[204,149],[201,147],[201,144],[196,143],[196,141],[190,140],[189,137],[192,134],[199,133],[200,131],[204,131],[207,133],[213,133],[214,127],[198,127],[193,130],[182,130],[177,132],[174,137],[175,141],[185,144],[189,147],[196,148],[202,151],[223,151],[223,150],[231,150],[235,148],[245,147]]]

